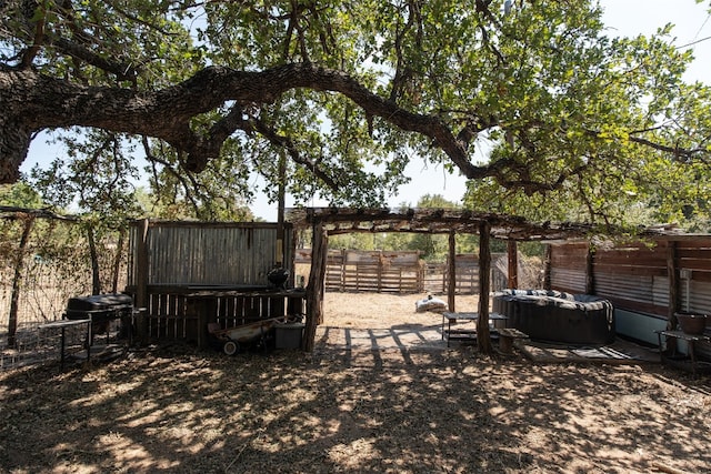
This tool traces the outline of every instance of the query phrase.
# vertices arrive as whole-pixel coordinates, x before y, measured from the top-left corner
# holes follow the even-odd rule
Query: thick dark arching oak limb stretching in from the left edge
[[[158,91],[86,87],[41,75],[31,69],[0,67],[0,103],[3,104],[3,113],[0,114],[0,182],[17,180],[33,132],[72,125],[164,140],[187,153],[187,170],[199,172],[209,160],[219,157],[224,140],[234,130],[234,123],[229,121],[236,118],[228,115],[218,121],[210,133],[198,133],[190,127],[193,117],[213,111],[228,101],[238,104],[273,103],[294,89],[340,93],[359,105],[367,117],[380,118],[403,131],[429,138],[468,179],[502,179],[504,171],[517,164],[511,160],[499,160],[474,165],[470,161],[467,149],[473,134],[469,132],[475,130],[475,123],[488,123],[490,118],[472,115],[471,130],[457,137],[439,115],[404,110],[371,92],[356,78],[311,63],[283,64],[257,72],[210,67],[184,82]],[[630,140],[675,155],[685,157],[694,152],[634,137]],[[541,190],[550,188],[550,184],[530,183],[529,189],[537,185],[542,186]]]

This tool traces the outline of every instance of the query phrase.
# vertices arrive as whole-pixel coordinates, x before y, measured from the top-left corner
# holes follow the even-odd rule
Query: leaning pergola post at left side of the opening
[[[323,323],[323,288],[326,261],[329,251],[329,235],[322,223],[313,226],[311,249],[311,273],[307,285],[307,321],[301,347],[312,352],[316,345],[316,329]]]

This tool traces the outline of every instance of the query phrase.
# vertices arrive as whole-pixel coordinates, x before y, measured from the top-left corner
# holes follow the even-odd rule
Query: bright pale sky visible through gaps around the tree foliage
[[[651,34],[658,28],[673,23],[672,37],[679,47],[694,43],[695,61],[689,69],[688,81],[702,81],[711,84],[711,19],[709,18],[709,0],[697,3],[695,0],[602,0],[604,10],[603,21],[610,37],[632,37]],[[56,149],[44,144],[41,137],[32,143],[28,159],[21,168],[29,171],[34,163],[49,161]],[[415,205],[425,194],[439,194],[452,202],[460,202],[467,189],[465,180],[457,174],[449,174],[441,165],[425,164],[414,159],[404,171],[412,181],[400,188],[397,195],[390,196],[388,205]],[[287,196],[287,206],[293,201]],[[324,202],[313,200],[307,205],[326,205]],[[263,195],[250,204],[253,214],[269,222],[277,221],[277,204],[270,204]]]

